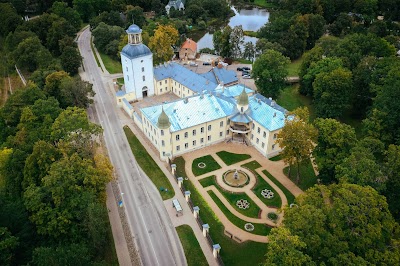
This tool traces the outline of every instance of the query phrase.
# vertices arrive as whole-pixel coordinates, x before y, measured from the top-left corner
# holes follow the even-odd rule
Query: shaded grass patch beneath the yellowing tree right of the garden
[[[288,176],[289,166],[283,169],[283,173]],[[296,182],[297,177],[297,166],[293,165],[290,171],[290,176],[288,176],[299,188],[302,190],[307,190],[308,188],[314,186],[317,183],[317,176],[314,173],[314,169],[311,164],[311,160],[307,160],[300,165],[300,182]]]

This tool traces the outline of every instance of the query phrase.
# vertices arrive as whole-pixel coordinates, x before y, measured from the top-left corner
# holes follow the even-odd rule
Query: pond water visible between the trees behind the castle
[[[269,12],[265,9],[252,8],[252,9],[241,9],[239,12],[234,6],[231,6],[235,16],[231,17],[228,25],[232,28],[235,26],[242,25],[243,30],[246,31],[258,31],[265,23],[268,22]],[[210,48],[214,49],[214,44],[212,41],[213,34],[207,32],[203,37],[197,42],[197,49]],[[257,42],[256,37],[244,36],[244,43],[252,42],[254,45]]]

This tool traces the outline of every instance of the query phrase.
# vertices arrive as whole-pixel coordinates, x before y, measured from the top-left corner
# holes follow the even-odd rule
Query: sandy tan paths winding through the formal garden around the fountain
[[[231,153],[247,153],[251,155],[250,159],[238,162],[236,164],[227,166],[220,158],[218,155],[216,155],[216,152],[218,151],[228,151]],[[192,162],[194,159],[202,157],[204,155],[211,155],[214,160],[216,160],[218,162],[218,164],[221,166],[221,169],[210,172],[210,173],[206,173],[204,175],[201,176],[197,176],[195,177],[192,173]],[[225,226],[225,230],[227,230],[228,232],[232,233],[234,236],[240,238],[242,241],[246,241],[246,240],[251,240],[251,241],[256,241],[256,242],[263,242],[266,243],[268,242],[268,238],[265,236],[261,236],[261,235],[254,235],[251,234],[247,231],[245,231],[244,229],[238,228],[236,225],[234,225],[233,223],[231,223],[229,221],[229,219],[224,215],[224,213],[219,209],[218,205],[212,200],[212,198],[210,197],[210,195],[207,193],[207,191],[212,190],[217,197],[222,201],[222,203],[225,205],[225,207],[227,207],[229,209],[229,211],[234,214],[235,216],[239,217],[240,219],[247,221],[247,222],[251,222],[251,223],[263,223],[263,224],[268,224],[270,226],[275,226],[276,224],[273,223],[271,220],[267,219],[267,213],[271,212],[271,211],[276,211],[275,208],[271,208],[266,206],[255,194],[254,192],[251,190],[251,188],[254,186],[254,178],[253,180],[250,180],[250,183],[242,188],[232,188],[227,186],[223,181],[222,181],[222,175],[223,173],[225,173],[227,170],[231,170],[231,169],[241,169],[245,172],[248,172],[248,170],[243,169],[240,167],[240,165],[251,162],[253,160],[256,160],[261,167],[256,169],[256,172],[266,181],[268,182],[268,184],[273,187],[275,189],[275,191],[277,191],[277,193],[279,194],[279,196],[282,199],[282,206],[287,204],[287,199],[285,194],[281,191],[281,189],[279,187],[277,187],[271,180],[269,180],[264,173],[262,173],[263,170],[268,170],[268,172],[270,172],[281,184],[283,184],[290,192],[292,192],[293,195],[298,196],[302,193],[302,190],[300,188],[298,188],[289,178],[287,178],[284,174],[283,174],[283,168],[285,167],[285,164],[281,161],[278,162],[273,162],[268,160],[267,158],[265,158],[263,155],[261,155],[258,151],[256,151],[254,148],[252,147],[247,147],[247,146],[243,146],[243,144],[238,144],[238,143],[219,143],[219,144],[215,144],[200,150],[196,150],[196,151],[192,151],[190,153],[186,153],[183,154],[182,157],[185,159],[185,171],[186,174],[188,175],[188,178],[190,178],[190,180],[192,181],[192,183],[194,184],[194,186],[196,187],[196,189],[202,194],[203,198],[207,201],[207,203],[209,204],[209,206],[213,209],[213,211],[215,212],[215,214],[217,215],[218,219],[224,224]],[[210,175],[215,175],[217,178],[217,183],[223,187],[224,189],[228,190],[228,191],[233,191],[233,192],[244,192],[246,193],[251,200],[253,200],[262,210],[261,213],[261,217],[264,218],[250,218],[247,217],[241,213],[239,213],[237,210],[235,210],[234,207],[232,207],[232,205],[225,199],[225,197],[218,191],[217,188],[215,188],[214,186],[210,186],[210,187],[206,187],[204,188],[199,180],[201,180],[202,178],[205,178],[207,176]],[[253,176],[251,174],[251,176]],[[280,217],[283,216],[283,211],[282,211],[282,215],[280,215]],[[282,218],[278,220],[277,224],[280,224],[282,222]],[[212,229],[210,229],[212,230]]]

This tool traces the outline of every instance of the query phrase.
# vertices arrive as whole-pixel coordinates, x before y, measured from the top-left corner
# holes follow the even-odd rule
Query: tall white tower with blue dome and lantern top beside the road
[[[126,30],[128,44],[121,51],[127,98],[139,100],[154,95],[153,54],[142,43],[142,30],[135,24]]]

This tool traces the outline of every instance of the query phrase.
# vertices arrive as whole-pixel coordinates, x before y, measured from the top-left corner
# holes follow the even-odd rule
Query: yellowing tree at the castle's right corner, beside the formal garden
[[[281,155],[290,168],[297,166],[296,182],[300,182],[300,164],[308,160],[314,150],[317,131],[308,123],[309,113],[306,107],[298,108],[289,114],[285,125],[278,133],[276,143],[283,149]]]

